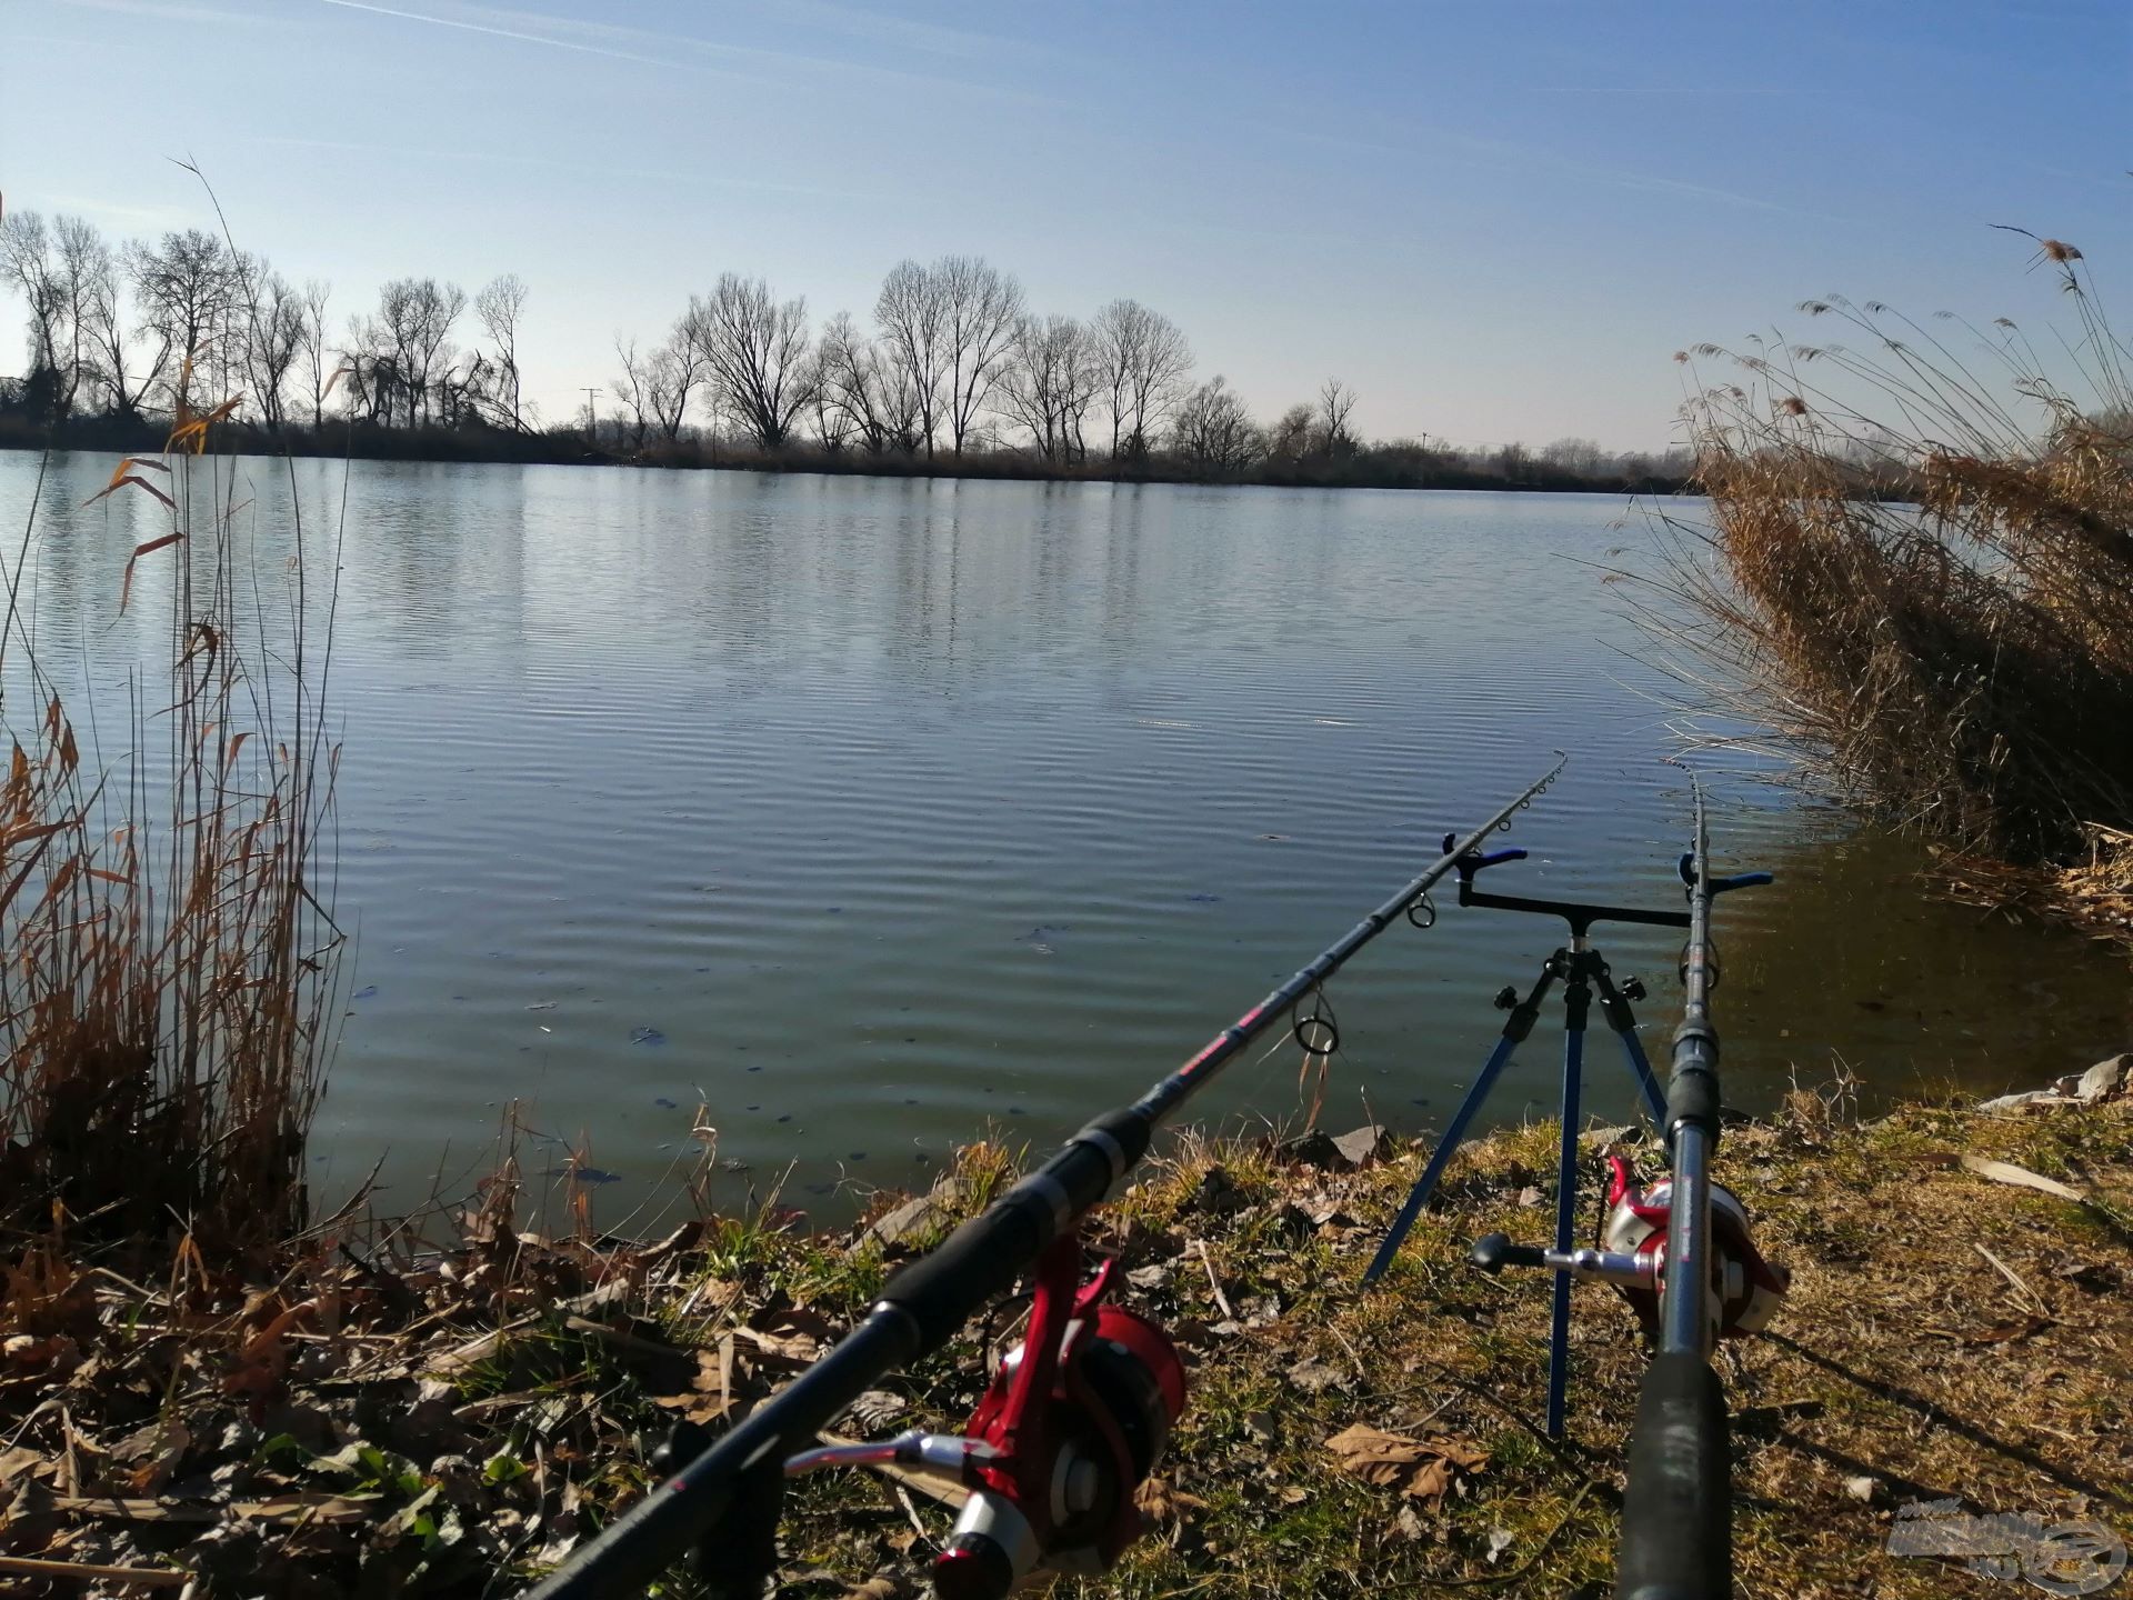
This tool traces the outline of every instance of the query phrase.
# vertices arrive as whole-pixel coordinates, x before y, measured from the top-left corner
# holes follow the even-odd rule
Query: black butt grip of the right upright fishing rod
[[[1615,1600],[1728,1600],[1730,1498],[1719,1376],[1694,1350],[1662,1350],[1630,1434]]]

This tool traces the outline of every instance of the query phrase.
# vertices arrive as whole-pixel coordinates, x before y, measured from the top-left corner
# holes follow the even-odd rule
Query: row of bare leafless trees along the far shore
[[[28,371],[0,382],[0,422],[51,435],[147,433],[237,397],[232,420],[286,444],[328,418],[380,454],[587,452],[672,465],[900,465],[1030,476],[1261,482],[1659,484],[1670,457],[1610,457],[1587,439],[1544,450],[1365,442],[1354,390],[1261,425],[1160,311],[1116,299],[1090,318],[1032,311],[979,256],[902,260],[868,322],[813,326],[802,297],[723,273],[655,343],[616,335],[616,375],[574,420],[525,395],[531,290],[506,273],[474,297],[395,277],[333,322],[331,286],[201,230],[109,241],[81,218],[0,218],[0,286],[28,309]],[[602,414],[599,397],[608,405]],[[401,448],[392,448],[392,439]],[[4,439],[4,429],[0,429]],[[943,465],[945,463],[945,465]]]

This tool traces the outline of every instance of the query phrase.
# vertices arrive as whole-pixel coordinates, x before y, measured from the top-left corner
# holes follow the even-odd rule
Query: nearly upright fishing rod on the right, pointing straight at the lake
[[[1717,1190],[1711,1156],[1719,1143],[1719,1030],[1711,990],[1719,981],[1711,945],[1711,902],[1768,873],[1717,877],[1704,789],[1696,794],[1696,832],[1681,858],[1689,892],[1689,943],[1681,956],[1681,1026],[1674,1028],[1666,1092],[1666,1141],[1672,1152],[1666,1257],[1659,1271],[1657,1350],[1645,1370],[1630,1431],[1630,1476],[1621,1502],[1617,1600],[1723,1600],[1732,1594],[1732,1470],[1726,1442],[1726,1391],[1711,1370],[1713,1342],[1730,1321],[1728,1301],[1753,1276],[1760,1257],[1747,1246],[1745,1214]],[[1736,1222],[1738,1214],[1738,1222]],[[1743,1254],[1745,1248],[1745,1254]],[[1768,1269],[1766,1269],[1768,1271]],[[1781,1276],[1773,1282],[1781,1289]]]

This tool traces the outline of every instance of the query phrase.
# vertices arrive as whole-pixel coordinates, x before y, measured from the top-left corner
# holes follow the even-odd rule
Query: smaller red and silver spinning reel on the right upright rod
[[[1662,1178],[1651,1188],[1638,1188],[1636,1169],[1623,1156],[1608,1161],[1615,1175],[1606,1190],[1604,1248],[1540,1250],[1512,1244],[1504,1233],[1485,1233],[1474,1239],[1472,1261],[1482,1271],[1549,1267],[1570,1278],[1615,1284],[1647,1338],[1657,1338],[1674,1186]],[[1792,1274],[1764,1261],[1749,1237],[1747,1207],[1719,1184],[1711,1184],[1711,1235],[1717,1246],[1706,1297],[1713,1333],[1721,1340],[1760,1333],[1792,1286]]]

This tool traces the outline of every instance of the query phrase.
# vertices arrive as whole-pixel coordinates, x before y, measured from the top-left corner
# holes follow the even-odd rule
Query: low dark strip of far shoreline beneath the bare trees
[[[151,420],[75,418],[58,429],[0,418],[0,450],[81,450],[102,454],[160,454],[169,435]],[[1113,482],[1113,484],[1252,484],[1265,489],[1463,489],[1555,495],[1679,495],[1694,493],[1685,478],[1651,474],[1576,474],[1529,461],[1519,476],[1480,469],[1455,457],[1423,450],[1365,450],[1344,461],[1263,461],[1241,474],[1192,474],[1184,463],[1154,457],[1145,463],[1086,463],[1060,467],[1037,457],[998,450],[936,454],[868,454],[789,446],[680,439],[642,450],[591,446],[582,433],[506,433],[501,429],[380,429],[328,422],[269,433],[250,422],[215,427],[211,454],[320,457],[350,461],[433,461],[444,465],[548,465],[548,467],[663,467],[674,471],[772,471],[851,478],[971,478],[994,482]]]

